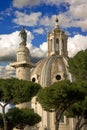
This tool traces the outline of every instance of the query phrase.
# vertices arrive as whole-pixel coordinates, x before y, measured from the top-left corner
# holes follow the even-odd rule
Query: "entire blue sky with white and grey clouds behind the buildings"
[[[54,27],[56,16],[68,34],[69,57],[87,49],[86,0],[0,0],[0,77],[14,75],[9,63],[15,60],[22,25],[31,57],[46,56],[46,35]]]

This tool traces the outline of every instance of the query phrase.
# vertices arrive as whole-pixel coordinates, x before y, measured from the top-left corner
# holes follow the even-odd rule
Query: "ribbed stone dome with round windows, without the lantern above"
[[[58,55],[52,55],[38,62],[31,74],[31,80],[43,87],[66,78],[68,78],[67,60]]]

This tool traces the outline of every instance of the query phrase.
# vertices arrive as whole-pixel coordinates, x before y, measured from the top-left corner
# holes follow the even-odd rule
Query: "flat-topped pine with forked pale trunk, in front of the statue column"
[[[4,102],[4,105],[0,103],[3,113],[4,130],[7,130],[5,107],[10,103],[19,104],[31,101],[39,89],[41,89],[39,84],[30,81],[15,78],[0,79],[0,100]]]

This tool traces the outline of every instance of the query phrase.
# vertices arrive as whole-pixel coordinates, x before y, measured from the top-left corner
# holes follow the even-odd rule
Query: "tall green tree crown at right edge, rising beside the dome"
[[[68,60],[69,71],[76,80],[87,80],[87,50]]]

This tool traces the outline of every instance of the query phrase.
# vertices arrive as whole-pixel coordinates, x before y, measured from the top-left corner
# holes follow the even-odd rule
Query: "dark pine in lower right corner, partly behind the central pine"
[[[87,124],[87,81],[83,81],[86,96],[85,99],[71,105],[65,112],[67,117],[76,118],[75,130],[80,130]]]

